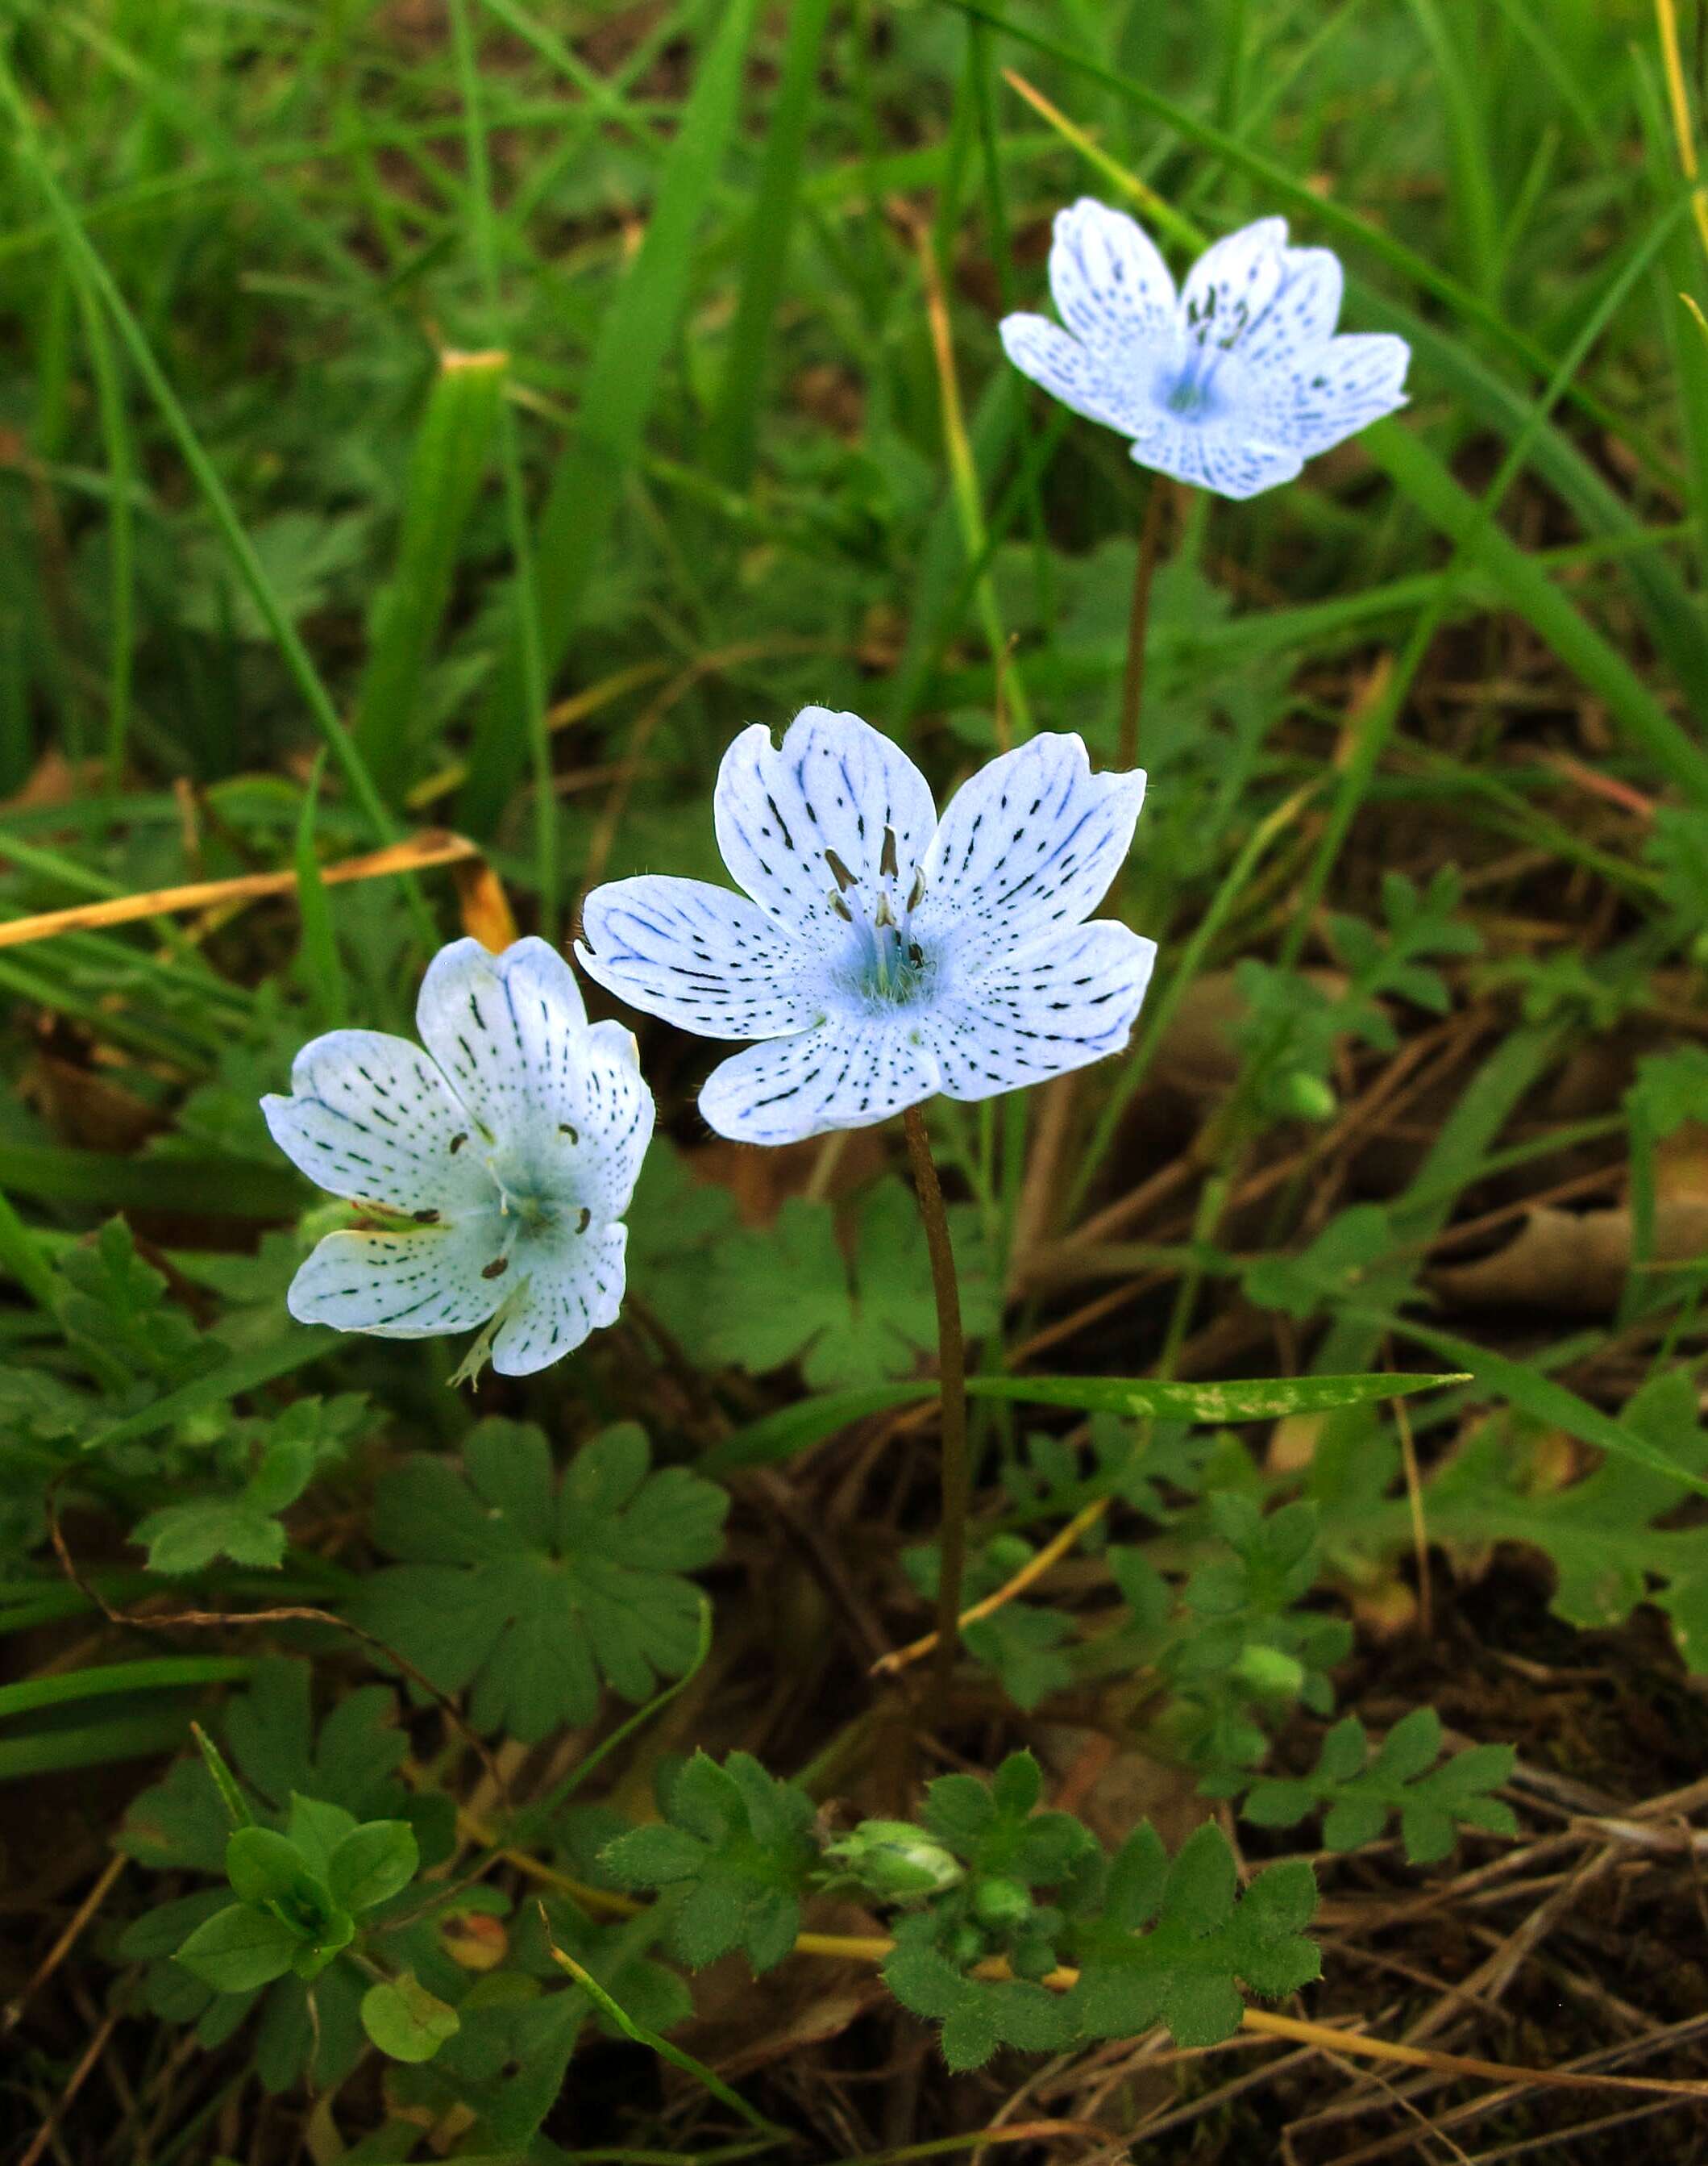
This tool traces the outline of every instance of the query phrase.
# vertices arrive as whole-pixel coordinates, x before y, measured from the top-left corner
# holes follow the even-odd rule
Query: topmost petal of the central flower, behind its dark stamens
[[[779,747],[760,723],[743,730],[723,754],[712,812],[743,888],[825,949],[842,944],[838,890],[853,879],[905,895],[937,825],[931,784],[901,745],[823,706],[803,708]]]

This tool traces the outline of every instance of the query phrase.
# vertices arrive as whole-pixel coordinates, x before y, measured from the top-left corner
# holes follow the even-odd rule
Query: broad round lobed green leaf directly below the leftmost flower
[[[561,1482],[541,1430],[483,1421],[463,1471],[411,1458],[381,1477],[375,1536],[407,1562],[375,1573],[353,1614],[470,1715],[537,1744],[591,1722],[600,1685],[652,1698],[699,1640],[684,1573],[721,1547],[727,1497],[686,1469],[652,1471],[639,1427],[587,1443]]]

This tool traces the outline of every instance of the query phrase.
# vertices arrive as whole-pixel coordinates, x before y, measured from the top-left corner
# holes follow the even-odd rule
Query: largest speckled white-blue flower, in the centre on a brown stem
[[[712,1070],[719,1135],[792,1144],[944,1092],[994,1098],[1117,1053],[1156,944],[1087,925],[1145,778],[1093,775],[1078,736],[983,767],[937,819],[918,767],[857,715],[743,730],[712,812],[747,890],[645,873],[595,888],[582,968],[701,1038],[762,1040]]]

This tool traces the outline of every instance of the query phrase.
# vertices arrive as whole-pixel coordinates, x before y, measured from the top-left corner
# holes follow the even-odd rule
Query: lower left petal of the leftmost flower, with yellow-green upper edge
[[[379,1339],[431,1339],[485,1323],[504,1297],[485,1267],[504,1243],[496,1211],[405,1232],[329,1232],[290,1282],[299,1323]]]

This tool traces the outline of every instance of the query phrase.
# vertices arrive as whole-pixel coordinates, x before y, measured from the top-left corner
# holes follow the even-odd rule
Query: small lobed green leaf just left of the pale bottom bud
[[[693,1969],[740,1947],[756,1971],[781,1962],[801,1930],[818,1863],[812,1800],[747,1752],[706,1752],[678,1770],[665,1819],[619,1835],[602,1863],[621,1887],[667,1889],[671,1949]]]

